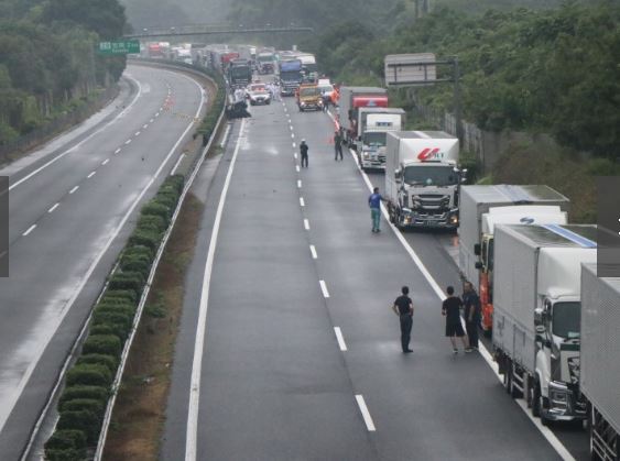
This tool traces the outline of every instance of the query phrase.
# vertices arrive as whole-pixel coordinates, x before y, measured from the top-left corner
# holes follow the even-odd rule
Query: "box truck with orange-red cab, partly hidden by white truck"
[[[493,229],[496,224],[566,224],[570,201],[543,185],[463,186],[458,268],[480,295],[480,326],[493,327]]]

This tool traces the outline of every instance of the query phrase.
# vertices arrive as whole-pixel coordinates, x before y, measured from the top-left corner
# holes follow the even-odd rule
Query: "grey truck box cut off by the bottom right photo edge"
[[[586,397],[592,460],[620,460],[620,278],[581,266],[579,389]]]

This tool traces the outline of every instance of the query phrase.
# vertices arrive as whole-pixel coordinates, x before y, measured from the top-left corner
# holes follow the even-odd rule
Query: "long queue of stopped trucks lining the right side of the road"
[[[307,59],[283,53],[274,66],[300,110],[320,108]],[[620,278],[597,277],[597,227],[570,224],[568,198],[545,185],[465,185],[458,139],[405,121],[384,88],[339,88],[338,130],[362,169],[384,172],[390,221],[458,229],[505,391],[544,425],[587,421],[592,459],[619,460]]]

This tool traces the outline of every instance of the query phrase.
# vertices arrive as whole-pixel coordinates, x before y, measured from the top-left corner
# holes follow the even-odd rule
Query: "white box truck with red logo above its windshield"
[[[458,139],[443,131],[391,131],[385,145],[385,197],[398,228],[458,227]]]

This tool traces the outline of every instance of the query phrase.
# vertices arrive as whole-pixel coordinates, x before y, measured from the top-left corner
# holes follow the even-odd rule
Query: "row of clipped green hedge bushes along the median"
[[[45,443],[47,460],[84,460],[99,438],[111,385],[153,260],[183,191],[185,178],[166,178],[142,207],[135,230],[94,308],[81,354],[66,374],[56,430]]]

